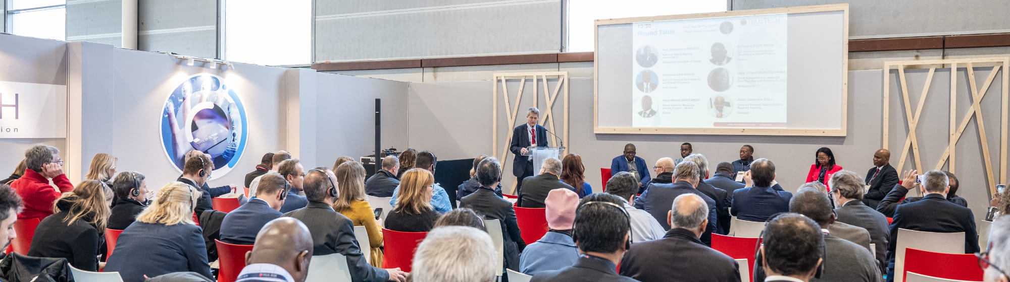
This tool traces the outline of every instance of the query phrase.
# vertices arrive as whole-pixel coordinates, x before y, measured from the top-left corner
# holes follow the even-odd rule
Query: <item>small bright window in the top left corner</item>
[[[7,32],[48,38],[67,39],[66,0],[8,0]]]

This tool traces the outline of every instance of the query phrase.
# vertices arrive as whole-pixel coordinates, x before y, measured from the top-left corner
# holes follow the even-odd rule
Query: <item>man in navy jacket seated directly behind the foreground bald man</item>
[[[224,216],[224,221],[221,222],[221,242],[252,245],[260,229],[281,217],[279,210],[284,204],[285,195],[291,196],[287,189],[288,183],[277,172],[268,172],[260,177],[256,197]]]

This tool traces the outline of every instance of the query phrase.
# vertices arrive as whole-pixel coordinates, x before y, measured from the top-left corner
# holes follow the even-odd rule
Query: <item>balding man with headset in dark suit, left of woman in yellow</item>
[[[405,281],[406,273],[396,269],[381,269],[369,265],[355,238],[355,225],[340,213],[333,210],[333,203],[340,196],[336,175],[325,169],[312,169],[305,176],[305,196],[308,205],[284,214],[301,221],[312,235],[312,253],[315,256],[341,254],[347,258],[347,269],[354,281],[381,282]]]

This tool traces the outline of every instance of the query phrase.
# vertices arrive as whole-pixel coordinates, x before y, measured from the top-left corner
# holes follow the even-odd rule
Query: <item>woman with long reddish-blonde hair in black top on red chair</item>
[[[412,168],[400,177],[400,194],[393,210],[386,216],[386,229],[399,232],[429,232],[440,215],[431,206],[434,175],[423,168]]]

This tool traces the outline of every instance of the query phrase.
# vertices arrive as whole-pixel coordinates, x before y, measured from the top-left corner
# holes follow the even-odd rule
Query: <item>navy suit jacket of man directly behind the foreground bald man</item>
[[[224,216],[221,222],[221,242],[235,245],[252,245],[263,226],[281,217],[263,199],[251,199]]]

